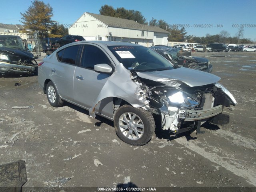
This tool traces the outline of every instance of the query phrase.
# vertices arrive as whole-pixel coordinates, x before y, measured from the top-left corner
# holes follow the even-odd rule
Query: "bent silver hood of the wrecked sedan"
[[[137,74],[141,78],[161,82],[172,87],[178,87],[182,83],[190,87],[202,86],[220,80],[220,77],[216,75],[184,67],[164,71],[137,72]]]

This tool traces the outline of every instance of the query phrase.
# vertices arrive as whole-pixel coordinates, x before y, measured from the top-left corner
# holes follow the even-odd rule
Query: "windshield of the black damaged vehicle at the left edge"
[[[13,36],[13,37],[0,36],[0,47],[16,48],[16,49],[26,51],[26,48],[23,45],[22,39],[17,38],[16,36]]]

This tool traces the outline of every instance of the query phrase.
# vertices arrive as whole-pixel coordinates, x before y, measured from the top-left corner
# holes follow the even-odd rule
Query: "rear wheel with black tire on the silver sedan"
[[[46,86],[46,96],[51,106],[60,107],[63,105],[63,100],[60,98],[58,90],[56,89],[54,83],[51,81],[48,82]]]

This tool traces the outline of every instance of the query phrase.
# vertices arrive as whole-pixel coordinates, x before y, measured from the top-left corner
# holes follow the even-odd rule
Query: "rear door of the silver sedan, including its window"
[[[74,100],[73,78],[75,63],[80,45],[66,47],[57,52],[58,62],[51,66],[51,79],[57,87],[60,96],[66,100]]]

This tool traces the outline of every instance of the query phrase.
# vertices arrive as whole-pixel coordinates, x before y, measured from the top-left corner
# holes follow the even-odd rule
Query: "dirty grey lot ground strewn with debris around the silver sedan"
[[[192,56],[208,58],[236,98],[224,110],[229,124],[192,137],[156,131],[146,146],[130,146],[111,121],[50,106],[37,76],[0,76],[0,164],[24,160],[24,186],[256,186],[256,53]]]

